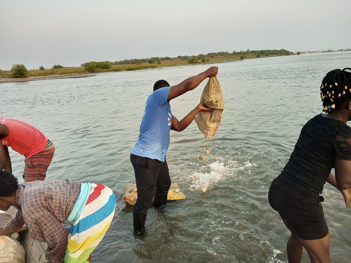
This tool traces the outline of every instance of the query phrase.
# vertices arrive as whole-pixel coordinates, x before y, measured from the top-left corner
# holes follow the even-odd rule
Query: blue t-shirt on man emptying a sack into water
[[[132,154],[165,161],[172,118],[170,102],[167,101],[171,87],[155,90],[146,100],[145,112],[140,125],[140,135]]]

